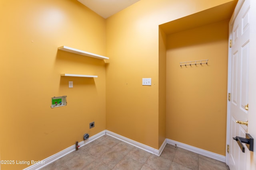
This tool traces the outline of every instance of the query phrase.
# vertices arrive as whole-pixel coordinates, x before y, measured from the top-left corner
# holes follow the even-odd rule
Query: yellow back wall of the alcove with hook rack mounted
[[[228,20],[167,36],[167,139],[225,155],[227,45]]]

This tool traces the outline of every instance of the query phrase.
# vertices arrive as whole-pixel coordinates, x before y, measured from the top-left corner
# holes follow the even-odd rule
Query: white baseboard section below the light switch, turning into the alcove
[[[121,135],[118,135],[118,134],[116,134],[116,133],[110,132],[110,131],[108,131],[108,130],[106,130],[106,135],[109,135],[109,136],[111,136],[111,137],[114,137],[114,138],[116,138],[116,139],[119,139],[120,141],[126,142],[126,143],[128,143],[128,144],[130,144],[130,145],[133,145],[134,147],[140,148],[140,149],[142,149],[142,150],[145,150],[145,151],[150,152],[150,153],[152,153],[152,154],[155,154],[155,155],[157,155],[157,156],[160,156],[160,154],[162,153],[162,151],[164,150],[164,147],[165,147],[165,145],[166,145],[166,140],[164,140],[164,143],[162,144],[162,146],[160,147],[160,149],[157,150],[157,149],[154,149],[154,148],[149,147],[149,146],[147,146],[147,145],[144,145],[144,144],[142,144],[142,143],[138,143],[138,142],[136,142],[136,141],[133,141],[133,140],[131,140],[131,139],[128,139],[128,138],[126,138],[126,137],[123,137],[123,136],[121,136]]]

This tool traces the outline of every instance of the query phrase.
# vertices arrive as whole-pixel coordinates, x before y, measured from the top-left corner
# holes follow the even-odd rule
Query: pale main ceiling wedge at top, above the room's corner
[[[78,0],[103,18],[108,18],[117,12],[131,6],[140,0]]]

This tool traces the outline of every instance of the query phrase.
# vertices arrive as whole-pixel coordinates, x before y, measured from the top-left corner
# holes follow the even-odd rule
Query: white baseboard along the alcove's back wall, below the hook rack
[[[180,143],[180,142],[173,141],[173,140],[170,140],[170,139],[166,139],[166,143],[168,143],[170,145],[174,145],[174,146],[176,144],[177,147],[180,147],[182,149],[189,150],[191,152],[194,152],[194,153],[200,154],[202,156],[206,156],[206,157],[218,160],[220,162],[226,162],[226,156],[222,156],[220,154],[216,154],[216,153],[213,153],[213,152],[209,152],[207,150],[203,150],[203,149],[199,149],[199,148],[196,148],[196,147],[192,147],[190,145],[186,145],[184,143]]]

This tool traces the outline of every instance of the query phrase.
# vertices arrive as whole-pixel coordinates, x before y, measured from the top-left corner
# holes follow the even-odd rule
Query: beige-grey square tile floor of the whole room
[[[161,156],[104,135],[41,170],[229,170],[225,163],[167,144]]]

